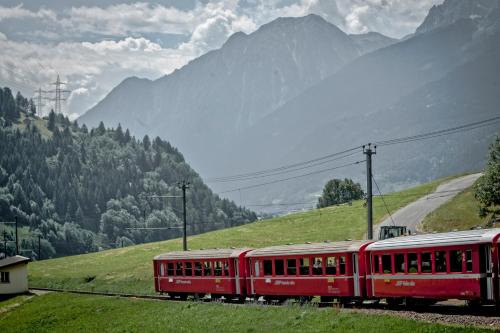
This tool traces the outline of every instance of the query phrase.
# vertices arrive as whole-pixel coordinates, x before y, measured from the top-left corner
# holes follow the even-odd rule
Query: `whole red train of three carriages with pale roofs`
[[[341,303],[446,299],[500,304],[500,229],[284,245],[170,252],[154,258],[157,292],[174,298],[243,301],[264,297]]]

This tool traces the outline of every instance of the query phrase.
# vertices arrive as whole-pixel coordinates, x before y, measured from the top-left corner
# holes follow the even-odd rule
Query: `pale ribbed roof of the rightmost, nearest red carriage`
[[[491,243],[500,235],[500,228],[443,232],[384,239],[367,246],[367,251],[412,249],[429,246],[455,246]]]

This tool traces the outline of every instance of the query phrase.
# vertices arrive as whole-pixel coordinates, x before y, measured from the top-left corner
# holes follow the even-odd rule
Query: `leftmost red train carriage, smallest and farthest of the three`
[[[250,249],[178,251],[154,258],[157,292],[185,299],[189,295],[243,298],[244,256]]]

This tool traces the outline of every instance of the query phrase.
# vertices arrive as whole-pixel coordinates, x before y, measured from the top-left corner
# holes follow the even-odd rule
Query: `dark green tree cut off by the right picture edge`
[[[474,196],[481,203],[480,216],[500,210],[500,136],[490,146],[489,159],[484,174],[475,185]]]

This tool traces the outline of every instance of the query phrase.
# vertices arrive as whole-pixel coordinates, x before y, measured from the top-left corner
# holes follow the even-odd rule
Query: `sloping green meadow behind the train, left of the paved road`
[[[395,211],[433,191],[445,180],[387,196],[387,205]],[[374,199],[374,207],[374,219],[380,222],[386,215],[380,198]],[[361,239],[365,232],[366,209],[362,201],[357,201],[352,206],[329,207],[188,237],[188,245],[191,249],[263,247],[290,242]],[[174,239],[34,262],[29,266],[30,286],[154,293],[153,256],[181,248],[181,239]]]

